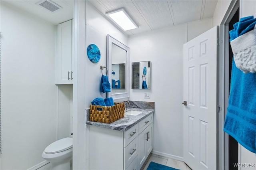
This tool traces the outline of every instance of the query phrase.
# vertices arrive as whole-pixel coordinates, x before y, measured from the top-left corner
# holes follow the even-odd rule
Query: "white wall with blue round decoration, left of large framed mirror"
[[[86,54],[86,108],[96,97],[106,98],[106,93],[100,93],[100,78],[102,76],[100,65],[107,67],[107,34],[123,44],[128,44],[128,36],[118,30],[102,16],[89,2],[86,3],[86,48],[94,43],[100,49],[101,58],[98,63],[92,63]],[[108,70],[111,72],[111,70]],[[106,69],[103,73],[106,75]]]

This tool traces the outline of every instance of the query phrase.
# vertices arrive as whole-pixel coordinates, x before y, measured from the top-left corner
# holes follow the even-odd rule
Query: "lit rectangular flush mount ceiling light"
[[[108,15],[124,31],[138,28],[138,26],[132,21],[130,16],[128,16],[124,8],[114,10],[111,12],[106,12],[106,15]]]

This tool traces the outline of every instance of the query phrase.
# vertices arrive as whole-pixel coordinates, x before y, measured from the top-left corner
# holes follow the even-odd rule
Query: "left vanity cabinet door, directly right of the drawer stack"
[[[138,136],[138,170],[142,167],[146,160],[146,142],[147,129],[143,130]]]

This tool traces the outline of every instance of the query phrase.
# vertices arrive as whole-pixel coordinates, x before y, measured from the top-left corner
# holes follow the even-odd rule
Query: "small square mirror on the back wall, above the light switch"
[[[150,61],[132,63],[132,89],[150,89],[150,75]]]

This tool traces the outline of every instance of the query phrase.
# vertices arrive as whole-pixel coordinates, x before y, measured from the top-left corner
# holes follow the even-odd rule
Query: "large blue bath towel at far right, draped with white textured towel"
[[[230,31],[230,41],[252,30],[256,23],[253,16],[241,18]],[[256,153],[256,73],[243,73],[232,61],[228,113],[225,132],[242,146]]]

